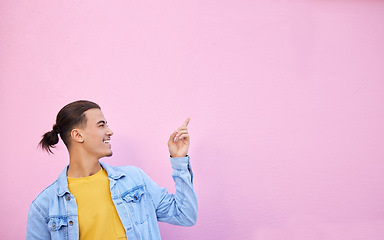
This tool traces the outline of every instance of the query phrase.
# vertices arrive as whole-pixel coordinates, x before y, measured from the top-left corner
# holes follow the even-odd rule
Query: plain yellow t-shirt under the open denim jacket
[[[76,198],[79,239],[127,239],[112,202],[107,172],[102,168],[89,177],[67,179],[69,191]]]

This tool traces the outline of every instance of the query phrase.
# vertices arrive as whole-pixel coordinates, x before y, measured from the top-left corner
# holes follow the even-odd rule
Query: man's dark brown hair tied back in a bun
[[[87,118],[84,112],[92,108],[101,109],[96,103],[87,100],[79,100],[65,105],[57,114],[52,131],[43,135],[43,139],[39,143],[41,148],[48,153],[53,153],[51,148],[55,148],[59,142],[58,134],[60,134],[65,146],[69,149],[69,139],[73,127],[85,127]]]

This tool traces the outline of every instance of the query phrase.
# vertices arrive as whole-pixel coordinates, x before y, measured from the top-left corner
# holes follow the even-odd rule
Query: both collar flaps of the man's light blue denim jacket
[[[119,169],[112,167],[106,163],[100,162],[100,165],[108,174],[108,178],[117,180],[125,174]],[[63,169],[60,173],[59,178],[57,179],[58,188],[57,188],[57,196],[62,197],[66,193],[70,193],[68,189],[68,180],[67,180],[67,171],[68,165]]]

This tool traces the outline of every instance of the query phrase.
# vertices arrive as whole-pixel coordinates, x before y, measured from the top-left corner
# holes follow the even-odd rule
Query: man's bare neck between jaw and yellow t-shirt
[[[69,167],[67,176],[82,178],[91,176],[101,170],[99,159],[86,156],[76,151],[69,152]]]

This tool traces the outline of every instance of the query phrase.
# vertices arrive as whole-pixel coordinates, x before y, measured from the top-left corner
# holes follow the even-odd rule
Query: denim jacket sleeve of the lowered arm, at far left
[[[41,210],[32,202],[28,211],[26,240],[51,239]]]

